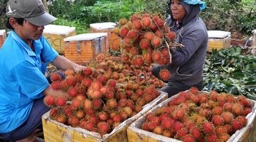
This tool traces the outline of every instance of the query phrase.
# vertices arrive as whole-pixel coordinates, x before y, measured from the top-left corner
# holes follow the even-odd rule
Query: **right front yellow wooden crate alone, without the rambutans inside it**
[[[171,101],[171,99],[174,99],[177,97],[178,94],[174,95],[173,97],[170,97],[169,99],[166,99],[164,102],[161,102],[160,104],[157,104],[153,109],[149,110],[146,114],[149,114],[151,112],[154,112],[156,109],[159,109],[161,107],[167,106],[168,103]],[[249,141],[256,141],[256,102],[254,100],[250,100],[252,104],[252,112],[250,114],[247,114],[247,125],[236,131],[232,136],[230,136],[230,139],[228,142],[249,142]],[[146,114],[144,116],[146,116]],[[175,141],[175,142],[181,142],[174,138],[169,138],[166,136],[161,136],[156,133],[151,133],[149,131],[144,131],[142,128],[142,124],[146,121],[145,117],[140,117],[136,121],[134,121],[128,128],[127,128],[127,137],[129,142],[162,142],[162,141]]]

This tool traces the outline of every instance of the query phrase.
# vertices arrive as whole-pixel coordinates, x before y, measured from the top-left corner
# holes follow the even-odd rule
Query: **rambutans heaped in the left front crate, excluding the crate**
[[[65,79],[58,73],[51,75],[51,87],[67,92],[68,98],[45,97],[45,104],[51,107],[50,119],[97,132],[101,136],[137,114],[160,94],[152,85],[117,87],[117,72],[98,75],[87,67],[80,72],[67,70],[65,75]]]

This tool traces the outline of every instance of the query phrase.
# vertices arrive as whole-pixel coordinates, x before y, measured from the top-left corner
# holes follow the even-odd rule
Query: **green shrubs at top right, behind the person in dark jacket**
[[[256,3],[250,0],[206,0],[201,17],[208,29],[250,33],[256,25]]]

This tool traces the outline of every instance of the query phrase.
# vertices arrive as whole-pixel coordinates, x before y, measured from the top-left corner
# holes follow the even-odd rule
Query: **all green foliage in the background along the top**
[[[54,24],[75,26],[87,33],[90,23],[117,22],[132,13],[167,13],[167,0],[48,0],[50,13],[58,17]],[[201,17],[209,30],[238,31],[250,34],[256,28],[255,0],[205,0]],[[0,0],[0,28],[4,28],[7,0]]]

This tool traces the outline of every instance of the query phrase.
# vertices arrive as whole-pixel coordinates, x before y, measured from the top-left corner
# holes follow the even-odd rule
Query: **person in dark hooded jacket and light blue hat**
[[[205,3],[200,0],[171,0],[168,2],[170,14],[166,18],[171,31],[176,32],[176,42],[183,47],[171,50],[172,62],[169,65],[156,65],[152,74],[159,77],[159,71],[166,68],[171,78],[161,91],[169,97],[191,87],[203,88],[203,67],[206,58],[208,33],[206,25],[198,16]]]

